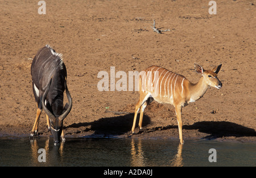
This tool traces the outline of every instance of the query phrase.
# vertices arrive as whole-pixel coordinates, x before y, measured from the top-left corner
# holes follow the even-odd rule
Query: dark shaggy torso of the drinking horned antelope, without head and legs
[[[61,54],[55,52],[49,45],[39,49],[32,61],[31,75],[35,100],[40,109],[42,109],[42,95],[46,91],[49,81],[52,80],[46,102],[49,103],[48,109],[55,116],[61,115],[63,113],[65,78],[67,77],[67,70]]]

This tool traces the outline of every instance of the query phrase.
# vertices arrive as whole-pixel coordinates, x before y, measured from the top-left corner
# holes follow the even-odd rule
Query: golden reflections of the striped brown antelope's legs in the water
[[[181,167],[183,166],[183,158],[182,158],[182,148],[183,144],[179,144],[177,146],[177,154],[173,159],[170,160],[171,166]],[[146,147],[145,149],[148,149]],[[147,150],[145,150],[147,152]],[[131,139],[131,166],[133,167],[144,167],[148,163],[146,163],[146,158],[144,156],[143,151],[143,140],[139,138],[137,142],[134,139]],[[168,165],[167,165],[168,166]]]

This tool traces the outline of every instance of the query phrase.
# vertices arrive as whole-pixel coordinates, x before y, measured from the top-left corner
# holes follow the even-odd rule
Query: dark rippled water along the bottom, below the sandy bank
[[[44,148],[46,162],[39,162]],[[209,162],[209,149],[216,162]],[[67,138],[60,146],[52,138],[0,138],[0,166],[256,166],[256,143],[214,140]],[[40,156],[41,155],[41,156]],[[213,158],[210,156],[210,158]]]

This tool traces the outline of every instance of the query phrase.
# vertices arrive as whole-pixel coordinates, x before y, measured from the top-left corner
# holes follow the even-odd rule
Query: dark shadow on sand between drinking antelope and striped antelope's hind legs
[[[123,135],[130,134],[131,127],[133,126],[134,113],[126,114],[126,115],[118,115],[117,117],[105,117],[100,118],[97,121],[93,122],[84,122],[84,123],[73,123],[64,129],[68,128],[79,128],[79,127],[87,127],[82,131],[94,131],[94,135]],[[138,125],[137,119],[137,125]],[[143,115],[143,123],[142,126],[146,126],[150,124],[150,117],[146,114]],[[81,131],[78,131],[78,133]]]

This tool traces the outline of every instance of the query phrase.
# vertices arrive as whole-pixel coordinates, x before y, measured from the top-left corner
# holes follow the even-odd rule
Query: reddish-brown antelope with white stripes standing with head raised
[[[199,64],[194,64],[194,66],[196,72],[202,74],[197,84],[192,84],[184,76],[156,65],[147,68],[146,71],[140,74],[139,101],[135,106],[133,127],[131,129],[133,134],[139,109],[141,109],[139,128],[142,129],[143,111],[147,105],[155,100],[159,103],[174,105],[179,127],[180,143],[184,143],[181,121],[182,107],[188,105],[190,102],[199,100],[210,86],[217,89],[222,87],[221,81],[217,78],[221,64],[212,70],[204,70]],[[151,90],[152,88],[154,90]]]

